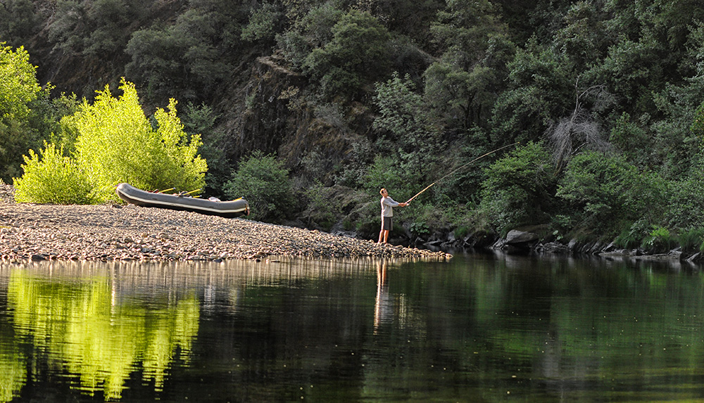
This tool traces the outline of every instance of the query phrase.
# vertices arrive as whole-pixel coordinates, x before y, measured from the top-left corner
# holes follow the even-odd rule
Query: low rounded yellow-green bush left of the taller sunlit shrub
[[[40,155],[30,150],[22,167],[25,173],[13,183],[18,203],[92,204],[98,200],[86,172],[54,144],[44,143]]]

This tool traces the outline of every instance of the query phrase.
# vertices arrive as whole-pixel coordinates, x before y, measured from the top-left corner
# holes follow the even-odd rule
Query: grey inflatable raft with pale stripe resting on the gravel
[[[213,201],[178,194],[147,192],[130,184],[119,184],[115,190],[127,203],[142,207],[159,207],[170,210],[185,210],[207,215],[234,218],[249,215],[249,203],[243,198],[231,201]]]

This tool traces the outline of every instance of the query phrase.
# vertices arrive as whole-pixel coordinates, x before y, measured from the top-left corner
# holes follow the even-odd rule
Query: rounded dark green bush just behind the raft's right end
[[[245,198],[251,219],[279,222],[294,210],[294,191],[289,171],[275,155],[254,151],[244,158],[232,179],[225,184],[225,194]]]

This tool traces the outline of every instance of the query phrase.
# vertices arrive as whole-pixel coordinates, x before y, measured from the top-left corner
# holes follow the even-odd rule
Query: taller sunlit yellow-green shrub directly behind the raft
[[[157,129],[147,120],[134,84],[122,80],[123,94],[113,98],[110,89],[99,91],[91,105],[62,120],[78,133],[78,166],[88,172],[100,200],[114,199],[114,186],[128,182],[146,190],[176,188],[191,191],[204,186],[206,161],[197,153],[200,136],[189,136],[176,116],[176,101],[169,110],[154,113]]]

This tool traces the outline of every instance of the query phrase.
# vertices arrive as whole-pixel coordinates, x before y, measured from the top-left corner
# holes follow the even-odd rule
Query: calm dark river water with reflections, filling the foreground
[[[704,401],[679,264],[0,264],[0,402]]]

